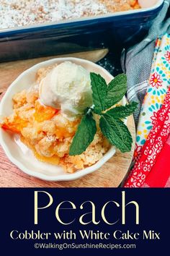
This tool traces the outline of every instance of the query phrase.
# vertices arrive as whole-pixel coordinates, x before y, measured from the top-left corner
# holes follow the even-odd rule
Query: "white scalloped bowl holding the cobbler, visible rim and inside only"
[[[8,90],[0,103],[0,115],[9,116],[12,114],[12,98],[15,93],[18,93],[21,90],[27,89],[35,82],[35,75],[38,69],[41,67],[48,67],[53,64],[60,64],[63,61],[72,61],[76,64],[81,65],[89,72],[96,72],[101,74],[102,77],[107,81],[107,83],[112,80],[112,77],[107,70],[103,69],[97,64],[94,64],[91,61],[86,61],[84,59],[77,58],[58,58],[50,59],[48,61],[40,62],[35,66],[27,69],[22,74],[17,77],[12,85],[9,86]],[[122,105],[125,105],[126,99],[122,98]],[[126,121],[125,121],[126,122]],[[17,142],[16,142],[17,141]],[[39,179],[44,179],[47,181],[70,181],[73,179],[79,179],[86,174],[91,174],[93,171],[97,171],[104,163],[106,163],[109,158],[112,158],[115,155],[115,147],[112,146],[107,153],[104,154],[101,160],[95,163],[93,166],[78,170],[73,174],[68,174],[63,171],[61,166],[53,166],[48,163],[42,163],[38,161],[32,153],[32,150],[27,148],[22,142],[17,140],[16,135],[12,135],[10,132],[6,132],[3,129],[0,129],[0,143],[1,147],[4,149],[7,157],[12,163],[14,163],[18,168],[20,168],[24,173],[31,176],[35,176]],[[19,145],[17,145],[19,144]]]

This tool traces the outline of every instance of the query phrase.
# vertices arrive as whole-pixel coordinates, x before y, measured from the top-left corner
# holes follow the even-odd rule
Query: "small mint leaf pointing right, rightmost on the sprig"
[[[117,106],[115,108],[112,108],[109,111],[107,111],[107,114],[109,116],[112,116],[114,119],[122,119],[133,114],[137,106],[138,103],[132,102],[125,106]]]

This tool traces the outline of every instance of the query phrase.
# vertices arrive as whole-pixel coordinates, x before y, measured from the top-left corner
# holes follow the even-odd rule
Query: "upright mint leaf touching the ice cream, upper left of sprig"
[[[107,96],[107,83],[100,74],[90,73],[91,88],[93,91],[94,112],[100,114],[105,110],[104,100]]]

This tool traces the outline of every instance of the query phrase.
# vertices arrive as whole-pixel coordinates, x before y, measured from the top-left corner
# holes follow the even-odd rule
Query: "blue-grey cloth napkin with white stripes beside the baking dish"
[[[148,88],[156,39],[164,33],[170,33],[169,6],[170,0],[164,1],[164,7],[154,20],[146,38],[127,51],[122,51],[122,70],[128,76],[128,101],[138,102],[138,109],[134,114],[136,125]]]

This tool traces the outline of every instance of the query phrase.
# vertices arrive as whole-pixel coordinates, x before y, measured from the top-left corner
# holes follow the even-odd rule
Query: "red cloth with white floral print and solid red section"
[[[170,179],[170,88],[124,187],[167,187]]]

